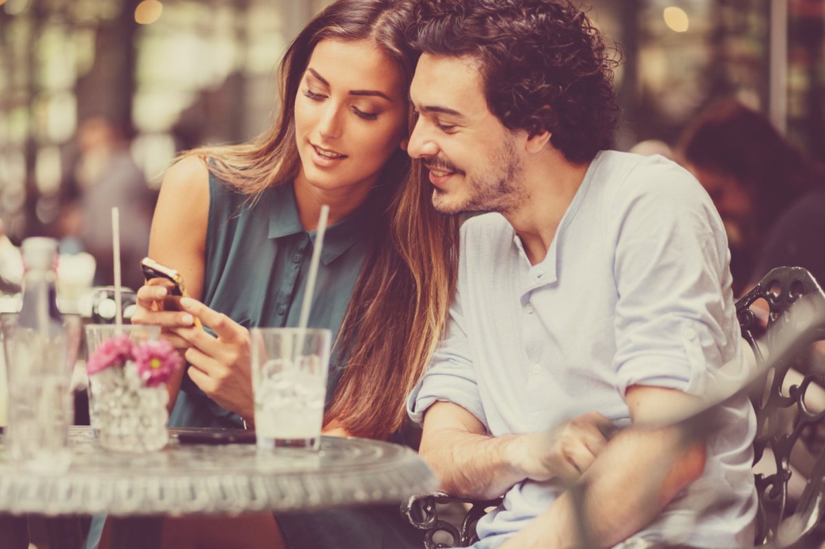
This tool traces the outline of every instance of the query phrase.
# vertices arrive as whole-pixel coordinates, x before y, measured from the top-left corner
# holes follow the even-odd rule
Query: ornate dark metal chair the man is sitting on
[[[804,311],[798,311],[793,306],[804,296],[808,296],[807,307],[804,307]],[[752,310],[752,305],[760,299],[764,299],[769,309],[766,323]],[[757,415],[757,437],[753,443],[754,464],[765,455],[766,448],[771,448],[776,463],[776,472],[755,475],[759,498],[755,545],[776,547],[776,543],[783,539],[795,540],[794,544],[798,544],[813,537],[815,528],[825,514],[825,444],[818,450],[803,495],[794,509],[791,509],[788,501],[788,482],[792,475],[791,450],[797,444],[816,443],[814,439],[818,435],[818,427],[825,427],[825,409],[812,411],[806,404],[809,387],[816,387],[817,384],[825,387],[825,371],[809,371],[804,373],[802,382],[790,384],[785,391],[783,386],[787,385],[785,380],[792,366],[799,363],[799,355],[804,354],[814,341],[825,340],[823,323],[811,322],[811,319],[822,319],[825,294],[807,270],[800,267],[778,267],[738,300],[736,311],[742,338],[751,346],[757,367],[765,364],[766,360],[775,362],[766,375],[755,382],[757,391],[752,391],[752,403]],[[818,315],[811,315],[811,312],[818,312]],[[786,338],[783,339],[789,329],[794,331],[790,347]],[[772,356],[771,350],[779,342],[783,344],[785,352],[782,356]],[[796,413],[790,420],[790,432],[787,429],[783,432],[778,428],[781,423],[780,411],[794,408]],[[444,492],[435,492],[409,498],[402,504],[401,513],[413,526],[427,532],[425,549],[469,547],[478,541],[475,523],[487,509],[496,507],[501,501],[464,500]],[[439,519],[436,508],[436,505],[453,502],[471,504],[460,528]],[[793,513],[789,514],[790,510]],[[789,517],[793,517],[790,522]],[[780,524],[784,524],[781,536]],[[451,544],[435,542],[433,536],[439,532],[449,534],[452,537]]]

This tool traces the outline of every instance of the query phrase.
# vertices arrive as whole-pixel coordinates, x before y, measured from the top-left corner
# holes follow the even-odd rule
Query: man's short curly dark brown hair
[[[508,129],[546,130],[570,162],[610,148],[615,49],[567,0],[421,0],[410,40],[480,61],[488,106]]]

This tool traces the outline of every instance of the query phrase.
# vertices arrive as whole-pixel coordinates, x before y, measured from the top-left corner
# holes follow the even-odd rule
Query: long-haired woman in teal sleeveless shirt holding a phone
[[[165,326],[186,347],[171,425],[252,422],[247,328],[297,324],[322,204],[329,227],[309,326],[337,334],[324,432],[388,439],[403,425],[404,398],[446,318],[457,242],[457,221],[434,212],[425,185],[408,184],[410,9],[333,3],[285,54],[276,124],[257,143],[197,149],[168,171],[149,256],[177,269],[195,300],[166,311],[163,286],[144,286],[133,322]],[[269,532],[271,516],[258,519],[232,528],[232,541]],[[421,547],[393,532],[397,520],[395,506],[290,515],[279,526],[286,547]],[[167,541],[210,523],[183,521]],[[278,547],[276,537],[264,547]]]

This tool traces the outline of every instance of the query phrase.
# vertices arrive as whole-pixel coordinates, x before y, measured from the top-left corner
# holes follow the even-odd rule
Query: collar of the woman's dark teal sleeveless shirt
[[[367,217],[356,209],[346,218],[327,228],[323,239],[321,262],[328,265],[350,246],[367,235]],[[270,188],[269,203],[269,232],[270,238],[288,237],[304,231],[298,214],[298,204],[295,202],[295,189],[291,183],[275,185]],[[315,231],[308,232],[309,239],[315,242]]]

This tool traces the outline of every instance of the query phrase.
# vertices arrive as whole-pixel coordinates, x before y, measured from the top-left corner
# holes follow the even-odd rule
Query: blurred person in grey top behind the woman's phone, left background
[[[84,120],[78,129],[79,159],[73,176],[77,199],[61,215],[64,242],[78,237],[97,261],[95,284],[114,283],[111,209],[120,209],[122,283],[143,285],[138,268],[146,256],[155,194],[135,164],[123,132],[101,116]]]

